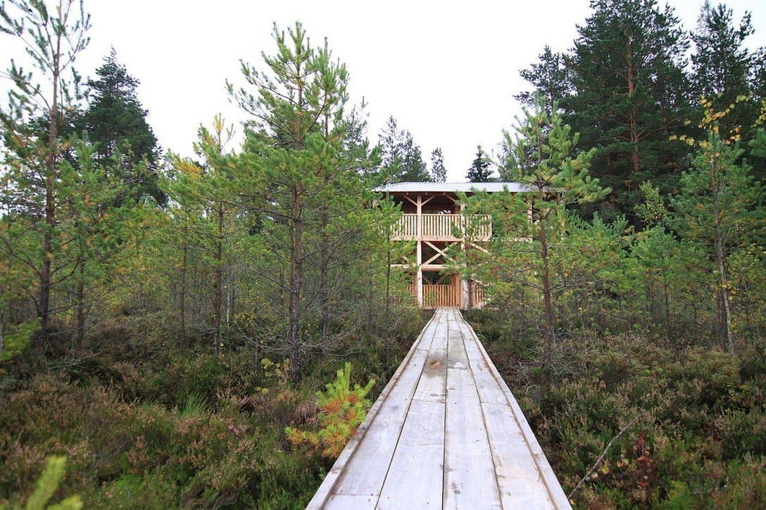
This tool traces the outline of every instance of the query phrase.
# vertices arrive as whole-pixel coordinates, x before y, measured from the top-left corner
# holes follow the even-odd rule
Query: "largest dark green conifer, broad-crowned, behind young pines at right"
[[[605,218],[632,214],[641,182],[677,185],[686,151],[669,142],[689,118],[683,73],[689,42],[673,8],[656,0],[594,0],[571,57],[565,121],[597,148],[594,175],[614,193]]]

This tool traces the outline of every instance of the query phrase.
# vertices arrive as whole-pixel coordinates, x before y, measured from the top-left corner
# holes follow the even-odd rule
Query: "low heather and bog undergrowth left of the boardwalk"
[[[285,429],[321,433],[316,391],[343,362],[329,355],[293,383],[286,361],[255,348],[215,356],[136,333],[104,332],[90,355],[41,358],[30,349],[3,365],[0,508],[25,502],[53,455],[65,456],[67,469],[51,502],[78,495],[84,508],[303,508],[333,459],[291,445]],[[342,370],[346,389],[386,381],[405,347],[387,362],[380,345],[355,342],[353,370]],[[382,387],[363,389],[374,399]]]

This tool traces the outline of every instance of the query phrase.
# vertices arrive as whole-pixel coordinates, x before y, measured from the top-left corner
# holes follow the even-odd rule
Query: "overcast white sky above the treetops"
[[[702,0],[670,0],[687,29]],[[714,2],[715,3],[715,2]],[[735,19],[752,12],[751,47],[766,46],[766,2],[730,0]],[[663,4],[663,0],[660,0]],[[548,44],[572,46],[588,0],[500,2],[359,2],[326,0],[85,0],[91,43],[78,68],[92,75],[110,46],[141,81],[139,99],[164,149],[191,154],[201,123],[216,113],[231,123],[243,116],[228,101],[226,79],[237,83],[239,59],[261,67],[272,54],[274,21],[298,20],[313,44],[329,41],[349,69],[352,101],[368,103],[368,137],[377,140],[388,116],[409,129],[424,159],[441,147],[450,181],[464,181],[481,144],[496,149],[529,89],[519,70]],[[9,38],[0,39],[6,67]],[[7,85],[0,84],[0,90]]]

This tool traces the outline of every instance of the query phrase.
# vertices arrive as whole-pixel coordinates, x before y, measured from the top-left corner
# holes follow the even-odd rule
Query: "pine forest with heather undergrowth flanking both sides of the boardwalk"
[[[470,319],[575,505],[752,506],[766,52],[725,5],[691,32],[650,0],[592,7],[522,70],[496,161],[466,168],[531,191],[465,198],[495,237],[453,270],[486,285]],[[219,116],[194,158],[163,153],[114,52],[77,74],[88,25],[72,0],[0,8],[34,63],[11,60],[0,107],[0,502],[56,454],[53,497],[88,506],[305,505],[332,448],[284,428],[322,436],[314,392],[344,361],[374,397],[423,322],[372,189],[444,180],[440,151],[393,118],[372,145],[348,70],[296,23],[227,85],[244,142]]]

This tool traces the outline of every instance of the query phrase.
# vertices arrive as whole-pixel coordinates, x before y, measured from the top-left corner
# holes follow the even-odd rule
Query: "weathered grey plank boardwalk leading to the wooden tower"
[[[437,309],[308,508],[570,508],[460,311]]]

